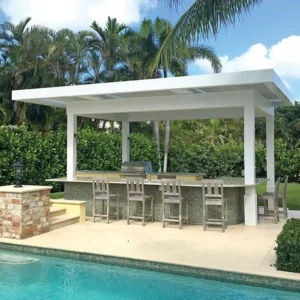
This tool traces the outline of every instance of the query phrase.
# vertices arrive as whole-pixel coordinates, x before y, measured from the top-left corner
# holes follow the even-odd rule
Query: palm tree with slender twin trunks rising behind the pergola
[[[153,37],[157,52],[163,46],[165,39],[172,31],[172,25],[167,20],[156,18],[153,23],[151,20],[144,20],[141,25],[141,33],[144,37]],[[157,54],[156,52],[156,54]],[[168,77],[168,73],[173,76],[186,76],[188,64],[195,59],[207,59],[215,72],[220,72],[222,64],[216,55],[214,49],[205,45],[187,45],[178,42],[176,44],[176,52],[170,52],[168,62],[159,61],[158,69],[163,73],[164,78]],[[159,146],[159,126],[158,122],[154,122],[155,140],[157,144],[158,156],[160,157]],[[164,142],[164,163],[163,172],[167,172],[168,151],[170,141],[170,121],[165,121],[165,142]]]

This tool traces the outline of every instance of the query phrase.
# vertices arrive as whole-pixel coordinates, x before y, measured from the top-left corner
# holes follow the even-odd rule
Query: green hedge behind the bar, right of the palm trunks
[[[171,140],[170,170],[173,172],[204,173],[207,177],[238,176],[244,169],[244,145],[229,143],[212,144],[199,142],[199,145],[186,145],[180,139]],[[256,175],[266,176],[266,148],[256,145]],[[282,140],[275,141],[276,177],[289,175],[291,181],[299,181],[300,149],[289,149]]]

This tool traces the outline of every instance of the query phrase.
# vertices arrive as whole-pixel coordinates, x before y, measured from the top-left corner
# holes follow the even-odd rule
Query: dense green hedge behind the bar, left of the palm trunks
[[[121,166],[120,134],[99,133],[92,129],[78,134],[79,170],[119,170]],[[131,159],[155,163],[155,143],[140,134],[131,135]],[[28,131],[25,126],[0,127],[0,185],[14,182],[12,164],[25,165],[27,184],[45,184],[47,178],[66,176],[67,143],[65,132],[49,133]],[[55,190],[61,185],[56,184]]]

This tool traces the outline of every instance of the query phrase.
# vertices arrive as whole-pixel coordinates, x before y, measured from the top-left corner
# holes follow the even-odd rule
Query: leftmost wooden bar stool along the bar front
[[[117,216],[119,220],[119,194],[109,193],[109,183],[106,177],[94,177],[92,178],[93,184],[93,222],[95,223],[95,217],[106,218],[107,224],[109,224],[109,217],[111,215]],[[115,198],[117,200],[117,212],[110,212],[110,199]],[[100,214],[96,214],[96,201],[102,202],[102,210]],[[106,201],[106,213],[104,211],[104,202]]]

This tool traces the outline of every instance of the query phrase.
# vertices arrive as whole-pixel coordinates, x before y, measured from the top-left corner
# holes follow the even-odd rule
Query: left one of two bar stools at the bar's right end
[[[279,211],[278,211],[279,185],[280,185],[280,177],[277,178],[274,193],[266,192],[262,195],[257,195],[257,200],[261,200],[264,203],[264,213],[259,214],[259,212],[258,212],[258,214],[257,214],[258,219],[260,216],[264,216],[264,217],[271,217],[275,224],[277,224],[277,222],[279,221]],[[268,208],[269,201],[273,202],[274,209]]]

